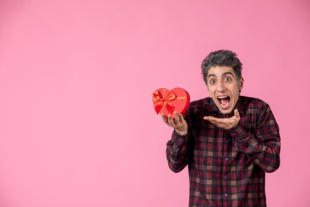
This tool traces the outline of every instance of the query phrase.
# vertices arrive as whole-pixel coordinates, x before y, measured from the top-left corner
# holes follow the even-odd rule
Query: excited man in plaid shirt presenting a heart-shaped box
[[[168,165],[188,165],[190,207],[266,207],[265,172],[280,164],[280,135],[265,102],[240,96],[244,79],[236,54],[219,50],[202,63],[211,98],[190,104],[184,117],[161,115],[174,128]]]

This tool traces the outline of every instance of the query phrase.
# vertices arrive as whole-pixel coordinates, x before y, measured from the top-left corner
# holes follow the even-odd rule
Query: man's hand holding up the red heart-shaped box
[[[184,120],[182,114],[179,114],[178,112],[174,113],[174,119],[172,119],[172,116],[168,114],[167,117],[165,117],[164,114],[161,114],[162,121],[166,123],[169,127],[172,127],[175,129],[175,131],[180,135],[186,135],[187,134],[187,123]]]

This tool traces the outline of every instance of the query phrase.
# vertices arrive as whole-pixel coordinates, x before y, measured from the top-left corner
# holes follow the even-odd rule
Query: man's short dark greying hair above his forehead
[[[237,58],[236,53],[230,50],[218,50],[211,52],[206,59],[203,61],[201,65],[202,74],[204,80],[207,84],[207,73],[210,68],[215,66],[225,66],[231,67],[234,69],[234,72],[238,78],[238,81],[241,78],[241,70],[242,70],[242,63]]]

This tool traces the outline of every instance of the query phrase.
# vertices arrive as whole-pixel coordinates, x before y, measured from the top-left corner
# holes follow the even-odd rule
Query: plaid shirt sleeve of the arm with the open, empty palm
[[[226,131],[233,137],[237,151],[246,154],[265,172],[274,172],[279,168],[279,127],[268,105],[258,114],[255,135],[248,133],[240,123]]]

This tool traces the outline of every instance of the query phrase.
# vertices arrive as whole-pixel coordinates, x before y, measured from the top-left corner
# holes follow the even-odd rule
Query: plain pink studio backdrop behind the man
[[[207,91],[230,49],[242,95],[271,106],[281,166],[269,207],[310,206],[308,0],[0,0],[0,207],[185,207],[152,93]]]

